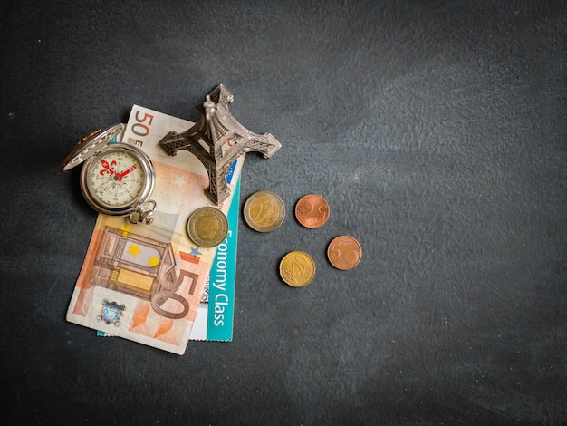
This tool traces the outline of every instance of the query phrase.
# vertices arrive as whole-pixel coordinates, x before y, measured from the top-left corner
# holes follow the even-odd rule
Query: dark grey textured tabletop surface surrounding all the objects
[[[24,0],[1,31],[3,424],[566,424],[564,2]],[[288,211],[240,224],[234,341],[65,322],[96,215],[62,159],[133,103],[196,121],[219,82],[283,144],[242,199]],[[308,192],[323,228],[293,218]]]

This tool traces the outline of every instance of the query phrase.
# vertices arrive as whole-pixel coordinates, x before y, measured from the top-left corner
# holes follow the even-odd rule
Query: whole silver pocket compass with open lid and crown
[[[128,216],[131,223],[151,223],[156,202],[151,193],[156,172],[148,155],[127,143],[111,140],[120,136],[124,125],[114,124],[93,131],[79,140],[63,170],[84,162],[81,190],[91,208],[111,216]]]

